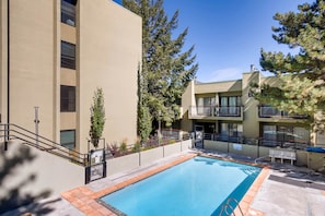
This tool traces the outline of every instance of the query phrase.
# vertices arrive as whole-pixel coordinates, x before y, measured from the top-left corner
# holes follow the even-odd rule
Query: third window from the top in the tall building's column
[[[76,111],[76,86],[61,85],[61,111]]]

